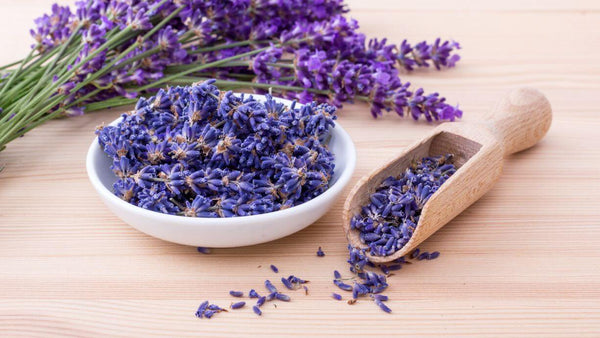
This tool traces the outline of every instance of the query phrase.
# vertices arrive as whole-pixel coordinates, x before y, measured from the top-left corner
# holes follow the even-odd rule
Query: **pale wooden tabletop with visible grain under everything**
[[[51,2],[0,4],[1,64],[25,54],[32,19]],[[459,102],[465,120],[521,85],[554,109],[546,138],[510,157],[495,188],[422,245],[440,258],[390,278],[391,315],[330,297],[332,271],[346,271],[342,200],[295,235],[210,255],[121,222],[84,169],[94,127],[120,114],[104,111],[47,123],[0,153],[0,335],[600,335],[600,3],[349,3],[368,36],[461,42],[456,69],[404,79]],[[365,105],[340,115],[358,148],[352,183],[433,128],[374,120]],[[309,279],[309,295],[292,292],[260,318],[194,317],[205,299],[228,306],[229,290],[288,274]]]

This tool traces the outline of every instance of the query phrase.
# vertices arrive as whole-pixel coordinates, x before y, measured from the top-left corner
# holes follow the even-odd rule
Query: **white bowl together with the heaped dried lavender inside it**
[[[184,245],[275,240],[323,216],[354,171],[335,107],[222,92],[206,81],[160,90],[106,126],[90,181],[124,222]]]

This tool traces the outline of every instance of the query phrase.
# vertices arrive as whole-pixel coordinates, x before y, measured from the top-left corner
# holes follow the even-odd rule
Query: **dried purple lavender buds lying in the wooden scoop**
[[[351,219],[351,229],[359,231],[370,254],[393,254],[408,243],[425,203],[455,171],[452,155],[425,157],[413,163],[399,177],[388,177],[381,183],[370,203]],[[411,258],[432,259],[429,253],[418,249]],[[365,263],[356,261],[359,265]]]

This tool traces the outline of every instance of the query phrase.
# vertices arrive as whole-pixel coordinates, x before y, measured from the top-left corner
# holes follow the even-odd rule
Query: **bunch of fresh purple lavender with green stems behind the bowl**
[[[341,106],[368,102],[428,121],[462,112],[399,72],[453,67],[456,42],[367,42],[342,0],[87,0],[35,21],[22,60],[0,67],[0,150],[57,117],[129,105],[166,85],[216,78]]]

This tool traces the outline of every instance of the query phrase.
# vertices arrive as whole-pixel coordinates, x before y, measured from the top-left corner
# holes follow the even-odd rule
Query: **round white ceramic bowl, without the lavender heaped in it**
[[[254,95],[264,100],[262,95]],[[277,99],[291,104],[291,101]],[[113,121],[116,125],[121,119]],[[86,159],[92,185],[106,206],[120,219],[150,236],[165,241],[212,248],[253,245],[276,240],[304,229],[323,216],[350,181],[356,165],[352,139],[336,123],[331,132],[329,149],[335,155],[335,169],[330,187],[314,199],[295,207],[262,215],[198,218],[162,214],[129,204],[112,191],[117,177],[110,169],[111,159],[98,145],[90,146]]]

